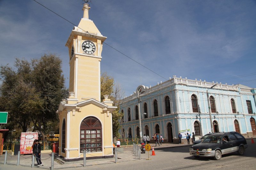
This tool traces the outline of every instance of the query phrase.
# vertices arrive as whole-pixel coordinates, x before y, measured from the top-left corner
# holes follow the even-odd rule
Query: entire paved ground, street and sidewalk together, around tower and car
[[[255,141],[255,139],[254,139]],[[149,158],[146,160],[148,154],[141,154],[141,160],[138,159],[132,153],[132,146],[124,148],[124,153],[118,153],[118,163],[115,164],[115,158],[100,159],[100,160],[87,160],[86,167],[83,167],[83,161],[73,164],[60,165],[54,162],[54,169],[256,169],[256,144],[251,143],[251,139],[247,140],[248,148],[245,150],[243,156],[239,156],[236,153],[223,155],[221,160],[216,161],[213,158],[194,158],[189,155],[190,145],[179,144],[163,144],[160,147],[154,147],[156,156],[151,156],[149,152]],[[153,145],[154,146],[154,145]],[[42,159],[49,157],[50,154],[43,154]],[[28,157],[28,156],[27,156]],[[31,158],[26,160],[20,160],[20,164],[27,164],[22,166],[10,165],[17,164],[17,158],[8,156],[7,164],[3,165],[4,156],[0,157],[0,169],[6,170],[27,170],[31,168]],[[14,158],[14,159],[13,159]],[[27,162],[27,163],[25,163]],[[51,159],[45,159],[42,161],[44,166],[41,169],[50,169]],[[30,165],[28,165],[30,163]],[[37,167],[35,167],[37,168]]]

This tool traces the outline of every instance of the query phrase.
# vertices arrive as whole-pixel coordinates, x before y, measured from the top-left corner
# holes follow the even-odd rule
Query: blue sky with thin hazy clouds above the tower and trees
[[[36,0],[78,25],[82,0]],[[191,80],[256,88],[255,0],[92,0],[89,19],[108,37],[101,72],[114,77],[130,96],[139,85],[155,86],[176,75]],[[74,27],[33,0],[0,0],[0,65],[15,57],[62,59]],[[148,70],[148,69],[152,70]],[[157,74],[159,75],[157,75]]]

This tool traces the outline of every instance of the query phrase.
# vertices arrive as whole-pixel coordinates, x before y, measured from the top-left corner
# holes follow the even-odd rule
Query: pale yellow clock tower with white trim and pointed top
[[[89,4],[84,16],[69,35],[69,97],[60,102],[59,155],[61,158],[109,158],[112,153],[112,112],[117,108],[105,95],[100,102],[101,35],[89,19]],[[110,154],[109,154],[110,153]]]

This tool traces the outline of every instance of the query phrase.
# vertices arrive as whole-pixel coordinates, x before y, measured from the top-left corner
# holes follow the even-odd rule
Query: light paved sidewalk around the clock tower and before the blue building
[[[171,143],[164,143],[156,147],[155,147],[155,144],[150,143],[150,145],[151,147],[154,147],[154,150],[188,146],[187,144],[171,144]],[[120,162],[132,161],[132,160],[139,160],[139,158],[135,156],[135,154],[133,154],[132,150],[133,150],[132,145],[128,145],[124,147],[124,153],[117,152],[117,158],[118,158],[117,162],[120,163]],[[4,156],[5,155],[3,154],[0,157],[0,167],[4,166]],[[17,158],[18,158],[17,155],[11,155],[11,153],[8,153],[7,165],[15,165],[17,167]],[[51,169],[51,153],[42,153],[41,159],[44,166],[40,166],[39,168]],[[115,155],[114,155],[114,158],[86,160],[86,166],[111,164],[111,163],[115,163]],[[31,167],[31,164],[32,164],[32,155],[20,155],[20,166]],[[37,163],[35,160],[35,168],[37,168],[36,165]],[[75,167],[82,167],[82,166],[83,166],[83,160],[71,162],[71,163],[69,162],[68,164],[66,163],[60,164],[58,159],[56,158],[54,159],[54,169],[75,168]]]

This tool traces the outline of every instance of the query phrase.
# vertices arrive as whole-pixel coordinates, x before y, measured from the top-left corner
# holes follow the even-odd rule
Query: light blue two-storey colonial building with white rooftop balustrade
[[[120,134],[123,138],[129,134],[139,136],[140,108],[142,134],[162,134],[169,143],[178,143],[179,132],[185,131],[194,132],[198,139],[211,132],[211,123],[214,132],[236,131],[244,137],[256,136],[255,95],[256,89],[241,84],[176,76],[154,87],[141,85],[120,105],[120,112],[124,113]]]

